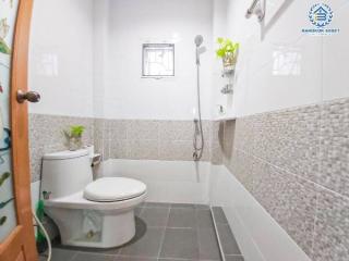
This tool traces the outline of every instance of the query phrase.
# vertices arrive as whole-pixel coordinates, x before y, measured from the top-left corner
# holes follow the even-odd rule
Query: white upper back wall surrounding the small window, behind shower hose
[[[136,7],[136,8],[135,8]],[[196,104],[194,37],[204,36],[202,104],[210,117],[210,0],[113,0],[110,2],[109,72],[106,116],[111,119],[193,119]],[[176,76],[141,78],[142,44],[176,44]]]

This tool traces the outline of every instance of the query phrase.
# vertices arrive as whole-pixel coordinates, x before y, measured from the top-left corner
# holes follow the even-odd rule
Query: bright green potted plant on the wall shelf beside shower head
[[[219,49],[216,50],[216,54],[222,60],[224,67],[233,69],[237,63],[239,44],[233,42],[229,38],[221,37],[217,39],[217,44],[219,45]]]

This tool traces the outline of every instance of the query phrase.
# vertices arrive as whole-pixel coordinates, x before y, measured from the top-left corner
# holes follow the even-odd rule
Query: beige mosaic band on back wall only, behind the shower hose
[[[105,159],[191,161],[193,153],[192,121],[98,120]],[[215,122],[204,121],[205,152],[203,161],[220,163],[218,137],[213,135]],[[103,135],[103,137],[100,136]],[[218,149],[217,149],[218,147]],[[101,152],[101,147],[96,146]],[[216,153],[212,150],[216,149]]]

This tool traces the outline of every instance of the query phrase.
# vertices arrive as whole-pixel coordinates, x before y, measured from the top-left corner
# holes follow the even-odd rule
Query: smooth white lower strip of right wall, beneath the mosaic
[[[226,166],[212,167],[210,203],[222,207],[245,261],[311,261]]]

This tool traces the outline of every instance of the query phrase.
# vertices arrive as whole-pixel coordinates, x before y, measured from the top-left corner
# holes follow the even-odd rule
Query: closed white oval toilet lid
[[[113,202],[139,197],[146,191],[146,185],[127,177],[104,177],[88,184],[84,198],[97,202]]]

